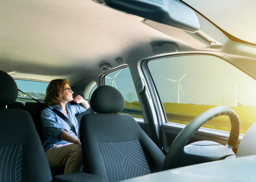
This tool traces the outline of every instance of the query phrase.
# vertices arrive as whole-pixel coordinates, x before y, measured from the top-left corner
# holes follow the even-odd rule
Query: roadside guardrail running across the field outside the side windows
[[[142,115],[142,111],[138,109],[128,109],[125,108],[122,113],[127,114],[135,114],[135,115]],[[194,115],[186,115],[186,114],[175,114],[166,112],[166,117],[168,122],[173,123],[180,123],[180,124],[188,124],[192,121],[196,116]],[[251,121],[240,121],[240,130],[247,130],[254,122]],[[213,118],[212,120],[208,121],[206,124],[215,125],[220,127],[231,127],[229,119],[222,119],[222,118]]]

